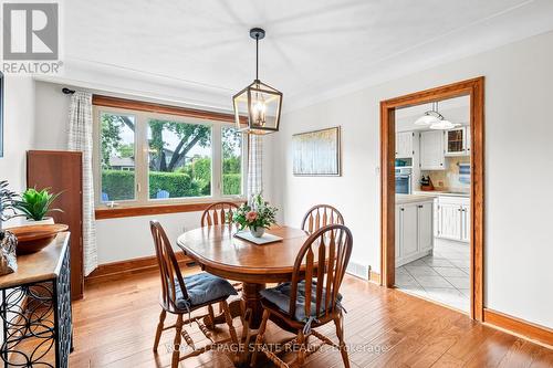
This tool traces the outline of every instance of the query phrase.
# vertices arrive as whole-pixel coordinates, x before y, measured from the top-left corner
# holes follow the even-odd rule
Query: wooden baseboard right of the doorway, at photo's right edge
[[[553,348],[553,329],[523,320],[501,312],[484,308],[483,322],[493,327]]]

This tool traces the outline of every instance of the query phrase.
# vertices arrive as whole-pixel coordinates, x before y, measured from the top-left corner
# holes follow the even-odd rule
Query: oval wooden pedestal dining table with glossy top
[[[300,229],[272,227],[267,233],[281,241],[255,244],[236,236],[234,225],[211,225],[181,234],[177,244],[204,271],[213,275],[242,282],[242,301],[251,311],[250,327],[258,328],[262,316],[260,291],[268,283],[291,281],[295,257],[309,234]],[[233,317],[243,313],[240,301],[232,301]],[[225,323],[217,316],[213,324]]]

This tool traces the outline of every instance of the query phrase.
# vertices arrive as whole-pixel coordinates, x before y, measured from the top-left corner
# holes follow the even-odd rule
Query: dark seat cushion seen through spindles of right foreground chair
[[[291,283],[283,283],[272,288],[265,288],[260,292],[261,296],[276,305],[282,312],[289,313],[290,311],[290,295],[292,294]],[[321,315],[325,312],[326,290],[323,287]],[[337,302],[342,301],[342,294],[336,296]],[[295,299],[295,315],[294,318],[299,322],[306,322],[307,317],[319,317],[316,314],[316,280],[313,280],[311,285],[311,315],[305,315],[305,281],[298,284],[298,297]]]

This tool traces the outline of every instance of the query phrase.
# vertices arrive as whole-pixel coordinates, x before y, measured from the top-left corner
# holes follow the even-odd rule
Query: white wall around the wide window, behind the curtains
[[[71,97],[61,92],[62,87],[65,85],[39,81],[35,82],[35,84],[36,130],[33,145],[36,149],[66,149],[66,133],[69,126],[69,108]],[[70,87],[79,90],[79,87]],[[111,93],[111,95],[113,95],[113,93]],[[128,96],[123,95],[122,97],[128,98]],[[133,98],[139,97],[133,96]],[[160,103],[163,103],[163,101]],[[264,139],[265,151],[273,150],[272,139],[272,137],[267,137]],[[271,156],[265,155],[263,177],[265,188],[264,192],[268,200],[272,200],[271,193],[273,170],[271,169]],[[190,230],[198,228],[200,224],[200,218],[201,212],[186,212],[152,217],[96,220],[98,263],[104,264],[154,255],[155,250],[152,242],[152,234],[149,232],[150,219],[157,219],[161,225],[166,228],[169,239],[175,241],[184,229]]]

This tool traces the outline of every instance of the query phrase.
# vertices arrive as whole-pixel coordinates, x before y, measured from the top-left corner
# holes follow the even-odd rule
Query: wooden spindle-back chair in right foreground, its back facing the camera
[[[352,233],[346,227],[331,224],[321,228],[311,234],[301,248],[295,259],[292,281],[260,292],[263,318],[255,340],[252,367],[257,362],[260,350],[278,367],[301,367],[307,356],[325,344],[340,349],[344,366],[349,367],[344,343],[340,286],[349,262],[352,246]],[[298,351],[298,356],[288,365],[278,356],[276,350],[262,345],[269,319],[295,335],[292,340],[279,348],[279,351]],[[315,330],[331,320],[336,327],[338,344]],[[311,336],[319,338],[322,343],[310,347]],[[291,350],[291,348],[294,349]]]

